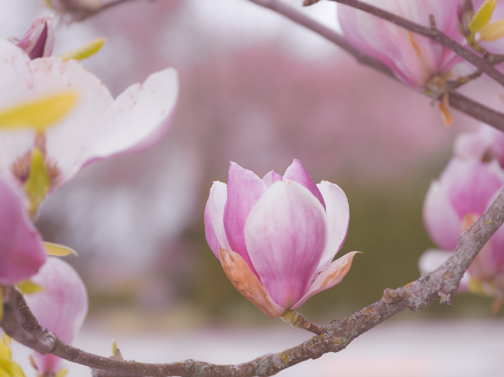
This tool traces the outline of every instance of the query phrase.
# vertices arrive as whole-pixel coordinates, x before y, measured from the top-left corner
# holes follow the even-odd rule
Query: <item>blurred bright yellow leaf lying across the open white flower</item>
[[[75,92],[62,92],[0,110],[0,128],[31,127],[42,132],[65,116],[76,100]]]

